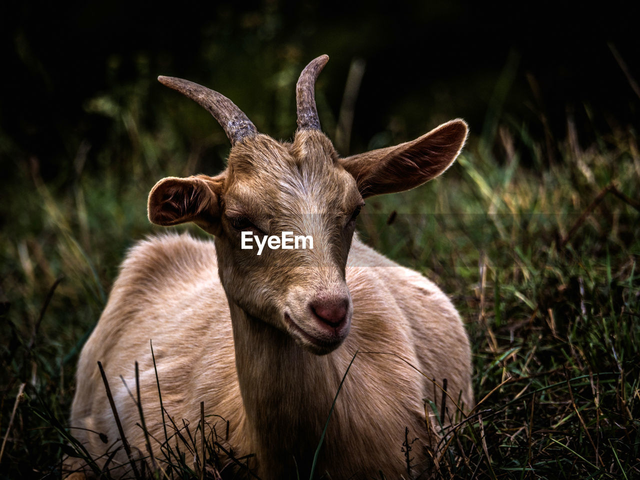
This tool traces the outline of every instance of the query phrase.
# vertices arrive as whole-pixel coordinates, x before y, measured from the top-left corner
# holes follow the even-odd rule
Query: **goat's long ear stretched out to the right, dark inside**
[[[363,197],[422,185],[449,168],[467,139],[460,119],[440,125],[413,141],[341,159]]]

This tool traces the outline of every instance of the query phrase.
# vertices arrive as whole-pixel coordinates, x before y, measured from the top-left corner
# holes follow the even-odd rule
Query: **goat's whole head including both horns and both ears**
[[[467,136],[467,124],[452,120],[396,147],[340,158],[320,130],[314,99],[317,75],[327,61],[326,55],[316,58],[300,75],[292,143],[259,134],[220,93],[159,77],[209,110],[232,148],[224,172],[163,179],[148,202],[153,223],[192,221],[213,234],[229,300],[317,354],[337,348],[349,332],[353,307],[345,267],[363,198],[440,175]],[[313,248],[263,248],[260,255],[255,242],[253,250],[241,248],[243,236],[264,241],[282,232],[312,237]]]

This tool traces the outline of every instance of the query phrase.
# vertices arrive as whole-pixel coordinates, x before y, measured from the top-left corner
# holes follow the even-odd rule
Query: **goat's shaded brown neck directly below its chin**
[[[237,305],[230,309],[246,427],[256,447],[312,451],[340,381],[332,355],[308,353]]]

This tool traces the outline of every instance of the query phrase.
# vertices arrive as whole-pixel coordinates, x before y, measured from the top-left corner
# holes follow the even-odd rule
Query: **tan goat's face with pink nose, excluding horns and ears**
[[[220,195],[216,249],[228,298],[315,353],[344,340],[351,323],[345,266],[364,201],[319,131],[282,144],[257,135],[232,149]],[[243,232],[310,237],[306,248],[241,248]],[[246,235],[246,234],[245,234]],[[302,246],[300,243],[298,246]]]

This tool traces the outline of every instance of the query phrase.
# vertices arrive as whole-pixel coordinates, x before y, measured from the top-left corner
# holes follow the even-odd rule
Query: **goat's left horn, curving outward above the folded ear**
[[[191,100],[195,100],[209,110],[209,113],[225,129],[232,146],[243,140],[243,138],[254,136],[258,133],[255,125],[244,115],[243,111],[221,93],[181,78],[159,76],[158,81],[169,88],[173,88],[173,90],[177,90],[177,92],[182,93],[182,95],[189,97]]]

